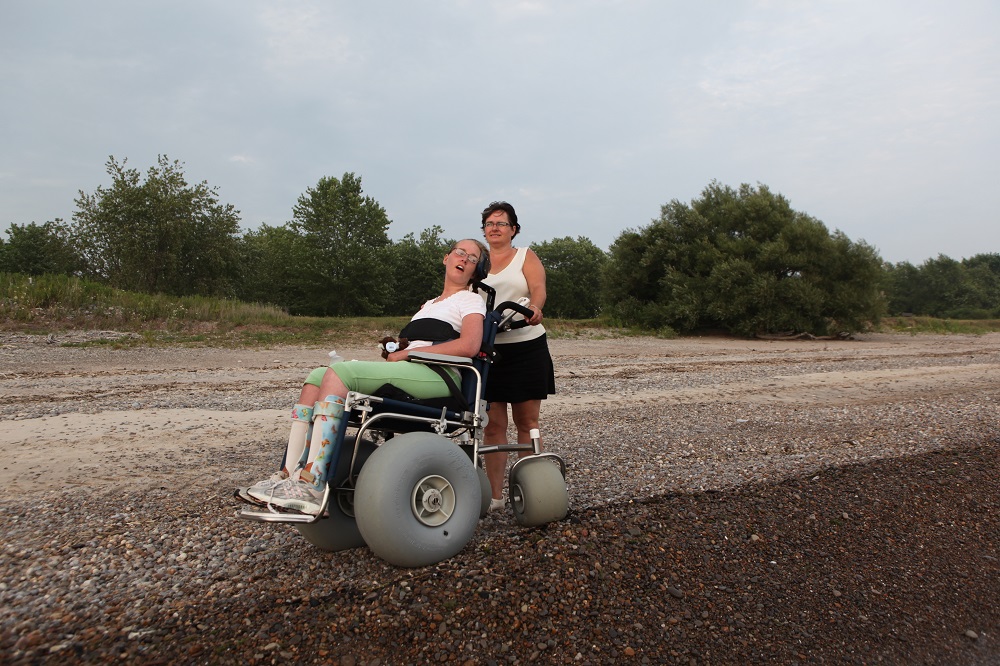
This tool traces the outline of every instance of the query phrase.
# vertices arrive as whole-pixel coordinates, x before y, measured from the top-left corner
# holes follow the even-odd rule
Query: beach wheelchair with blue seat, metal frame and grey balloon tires
[[[565,518],[566,464],[557,454],[540,450],[537,430],[531,444],[483,444],[489,418],[483,389],[496,356],[496,335],[526,325],[513,318],[518,313],[530,317],[531,311],[511,301],[494,308],[495,290],[478,281],[472,286],[486,294],[479,354],[448,356],[429,347],[409,356],[415,363],[457,369],[462,382],[461,387],[451,382],[452,396],[415,400],[389,385],[376,395],[348,393],[348,417],[337,433],[339,445],[319,514],[261,505],[243,489],[237,496],[256,506],[243,508],[239,517],[292,524],[325,551],[367,546],[395,566],[428,566],[461,551],[489,511],[492,492],[480,455],[531,451],[535,455],[518,458],[508,473],[515,519],[535,527]]]

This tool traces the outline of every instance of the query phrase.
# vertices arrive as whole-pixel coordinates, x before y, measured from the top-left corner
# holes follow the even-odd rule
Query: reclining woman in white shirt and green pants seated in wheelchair
[[[309,373],[292,410],[282,469],[250,486],[247,494],[268,504],[319,513],[330,457],[340,444],[335,440],[348,391],[372,394],[392,384],[418,399],[449,396],[450,388],[437,372],[407,359],[411,351],[431,345],[436,354],[472,357],[479,353],[486,305],[469,285],[481,272],[477,267],[481,269],[488,261],[486,246],[477,240],[461,240],[452,246],[444,256],[441,295],[424,303],[413,315],[400,335],[409,344],[389,353],[389,363],[342,361]],[[457,378],[457,373],[453,376]]]

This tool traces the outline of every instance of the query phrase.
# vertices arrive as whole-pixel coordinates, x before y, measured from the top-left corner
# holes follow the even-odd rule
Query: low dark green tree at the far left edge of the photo
[[[73,275],[80,257],[61,219],[44,224],[12,224],[7,243],[0,240],[0,272],[24,275]]]

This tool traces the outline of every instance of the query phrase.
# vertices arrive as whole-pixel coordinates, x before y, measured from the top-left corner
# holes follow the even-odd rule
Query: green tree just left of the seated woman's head
[[[412,233],[392,246],[392,277],[386,314],[411,315],[441,289],[441,260],[454,241],[441,238],[444,229],[434,225]]]

